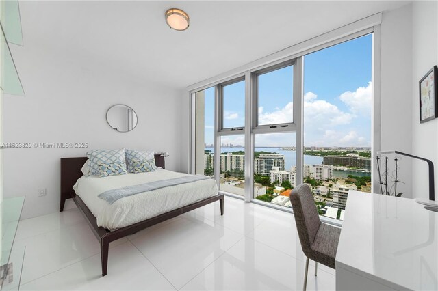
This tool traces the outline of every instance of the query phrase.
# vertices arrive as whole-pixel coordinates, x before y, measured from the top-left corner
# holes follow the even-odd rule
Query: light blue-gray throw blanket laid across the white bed
[[[109,204],[113,204],[118,199],[128,197],[131,195],[136,195],[138,193],[143,193],[147,191],[153,191],[156,189],[161,189],[168,186],[176,186],[179,184],[185,184],[190,182],[196,182],[200,180],[206,180],[209,179],[209,177],[201,176],[201,175],[190,175],[190,176],[184,176],[179,178],[172,178],[168,180],[160,180],[155,182],[149,182],[139,185],[133,185],[133,186],[125,186],[118,189],[112,189],[105,191],[101,194],[99,194],[99,198],[104,199]]]

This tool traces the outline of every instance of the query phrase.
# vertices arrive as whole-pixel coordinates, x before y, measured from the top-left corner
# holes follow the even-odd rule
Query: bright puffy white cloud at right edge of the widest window
[[[347,91],[339,96],[352,113],[363,116],[371,115],[371,92],[372,83],[368,82],[367,87],[359,87],[355,92]]]

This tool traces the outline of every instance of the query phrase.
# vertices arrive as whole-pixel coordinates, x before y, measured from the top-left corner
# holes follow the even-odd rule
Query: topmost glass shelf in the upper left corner
[[[23,33],[21,31],[20,7],[18,0],[1,1],[0,21],[10,44],[23,46]]]

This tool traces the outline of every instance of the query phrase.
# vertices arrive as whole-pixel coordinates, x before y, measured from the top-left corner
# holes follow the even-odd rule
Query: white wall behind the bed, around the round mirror
[[[181,90],[134,80],[29,39],[12,51],[26,96],[4,96],[3,141],[89,145],[2,150],[4,196],[26,196],[22,219],[58,211],[61,157],[85,156],[99,148],[165,151],[170,153],[166,168],[179,170]],[[129,133],[107,124],[105,113],[117,103],[138,115],[138,125]],[[44,188],[47,196],[38,197],[38,189]]]

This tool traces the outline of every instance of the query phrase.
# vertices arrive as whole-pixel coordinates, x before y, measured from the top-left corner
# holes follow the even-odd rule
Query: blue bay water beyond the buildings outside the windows
[[[205,148],[205,150],[211,150],[214,153],[214,148]],[[220,153],[226,152],[244,152],[244,148],[220,148]],[[283,154],[285,156],[285,170],[290,171],[292,166],[296,166],[296,151],[294,150],[279,150],[279,148],[255,148],[255,152],[275,152],[276,154]],[[307,154],[304,155],[304,163],[305,165],[320,165],[322,164],[322,156],[309,156]],[[333,177],[335,178],[346,178],[348,175],[365,177],[371,176],[370,173],[361,173],[357,171],[336,171],[333,170]]]

